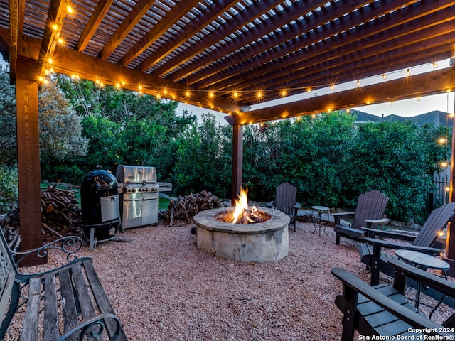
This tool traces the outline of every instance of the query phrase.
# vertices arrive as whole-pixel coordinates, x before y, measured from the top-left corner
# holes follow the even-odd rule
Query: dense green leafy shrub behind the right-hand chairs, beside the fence
[[[389,197],[387,215],[425,220],[424,208],[434,188],[432,172],[447,146],[437,144],[441,128],[411,121],[361,124],[350,146],[345,170],[347,197],[378,189]]]

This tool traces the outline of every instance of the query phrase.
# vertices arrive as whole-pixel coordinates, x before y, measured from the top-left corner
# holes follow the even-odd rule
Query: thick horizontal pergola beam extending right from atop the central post
[[[229,124],[254,124],[276,119],[286,119],[303,115],[329,112],[333,110],[362,107],[367,104],[378,104],[417,98],[443,93],[455,89],[455,72],[452,67],[433,72],[390,80],[375,85],[358,87],[326,94],[309,99],[279,104],[264,109],[232,114],[225,119]]]

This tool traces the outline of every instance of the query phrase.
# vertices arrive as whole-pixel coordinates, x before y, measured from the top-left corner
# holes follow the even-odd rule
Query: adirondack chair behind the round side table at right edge
[[[368,232],[368,237],[365,237],[365,243],[360,244],[359,253],[360,261],[370,268],[371,285],[375,286],[379,283],[380,272],[389,276],[394,275],[393,268],[387,264],[387,260],[395,259],[397,257],[394,254],[383,252],[382,248],[406,249],[432,255],[439,254],[443,245],[437,242],[438,233],[444,229],[447,222],[451,220],[454,215],[454,210],[455,202],[449,202],[446,205],[433,210],[424,226],[422,226],[419,234],[417,234],[417,237],[400,232],[387,232],[364,228],[365,232]],[[412,242],[412,244],[392,242],[390,240],[378,239],[378,237],[407,240]]]

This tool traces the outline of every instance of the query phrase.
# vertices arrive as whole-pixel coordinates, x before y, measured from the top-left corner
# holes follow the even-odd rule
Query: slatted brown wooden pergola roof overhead
[[[264,101],[279,98],[282,87],[298,92],[450,58],[455,40],[455,1],[446,0],[73,0],[75,13],[52,32],[50,9],[65,1],[26,0],[16,27],[28,40],[19,38],[4,55],[36,58],[40,46],[43,60],[63,38],[59,58],[76,50],[82,55],[75,60],[90,55],[108,63],[89,79],[112,83],[134,70],[149,83],[146,93],[162,94],[166,85],[177,100],[223,112],[257,103],[257,89]],[[9,21],[9,1],[0,0],[1,46],[14,38]],[[56,63],[60,72],[90,73],[85,62]],[[181,93],[186,89],[193,98]],[[217,99],[205,98],[210,90]],[[234,90],[242,96],[232,99]]]

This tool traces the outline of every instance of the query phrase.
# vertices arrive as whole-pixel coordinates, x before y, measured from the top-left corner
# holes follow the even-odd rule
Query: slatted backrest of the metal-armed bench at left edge
[[[0,231],[0,318],[4,317],[8,308],[15,277],[16,266],[4,234]]]

